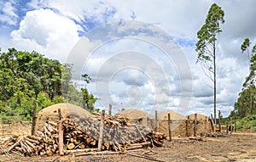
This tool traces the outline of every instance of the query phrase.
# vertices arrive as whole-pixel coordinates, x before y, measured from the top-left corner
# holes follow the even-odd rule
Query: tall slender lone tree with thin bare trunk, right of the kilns
[[[198,53],[196,62],[202,62],[209,73],[206,73],[209,79],[213,81],[213,107],[214,121],[216,123],[216,48],[218,33],[222,32],[220,23],[224,23],[224,10],[216,3],[213,3],[208,11],[205,24],[197,32],[195,51]]]

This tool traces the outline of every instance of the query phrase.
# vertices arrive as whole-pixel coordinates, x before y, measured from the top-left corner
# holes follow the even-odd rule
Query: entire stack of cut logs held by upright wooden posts
[[[48,121],[44,131],[33,136],[10,137],[6,140],[0,154],[14,152],[23,155],[60,154],[59,127],[63,129],[63,148],[66,154],[76,151],[96,151],[100,134],[99,114],[95,117],[78,118],[72,116],[58,124]],[[102,150],[125,151],[143,147],[162,146],[166,135],[148,130],[145,126],[129,124],[126,120],[105,115],[102,137]],[[0,144],[1,145],[1,144]]]

